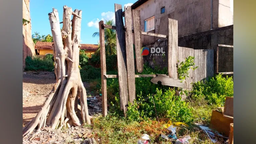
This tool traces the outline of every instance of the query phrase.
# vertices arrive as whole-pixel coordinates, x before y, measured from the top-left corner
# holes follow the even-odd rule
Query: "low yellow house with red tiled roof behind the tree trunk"
[[[35,44],[35,51],[37,55],[53,54],[52,50],[53,42],[37,41]],[[98,49],[97,44],[81,44],[80,49],[85,50],[85,53],[89,53],[89,57]]]

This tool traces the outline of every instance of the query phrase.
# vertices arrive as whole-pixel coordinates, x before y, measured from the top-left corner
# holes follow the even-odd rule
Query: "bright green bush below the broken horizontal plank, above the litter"
[[[141,95],[138,96],[140,102],[129,104],[127,117],[130,120],[141,120],[155,117],[155,108],[159,118],[170,118],[172,121],[191,123],[192,109],[188,103],[181,100],[181,97],[175,96],[175,91],[170,88],[162,93],[162,90],[156,88],[155,95],[148,95],[148,102]],[[138,118],[139,117],[141,118]]]

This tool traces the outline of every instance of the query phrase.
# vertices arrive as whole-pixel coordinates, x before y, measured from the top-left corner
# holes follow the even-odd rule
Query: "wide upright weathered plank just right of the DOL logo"
[[[168,18],[168,75],[173,79],[178,79],[178,21]]]

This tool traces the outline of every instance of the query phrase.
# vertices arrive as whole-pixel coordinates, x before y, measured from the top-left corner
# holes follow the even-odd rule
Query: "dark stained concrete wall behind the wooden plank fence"
[[[178,46],[193,49],[213,49],[217,44],[233,45],[233,25],[209,31],[178,37]],[[147,47],[163,47],[167,55],[167,40],[161,40],[147,45]],[[167,56],[143,56],[144,63],[151,67],[167,67]],[[233,51],[231,48],[220,47],[219,72],[233,71]]]

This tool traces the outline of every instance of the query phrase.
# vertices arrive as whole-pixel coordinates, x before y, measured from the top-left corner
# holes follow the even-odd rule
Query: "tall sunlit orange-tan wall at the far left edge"
[[[30,21],[23,26],[23,71],[25,68],[25,58],[35,55],[34,43],[31,35],[31,19],[29,11],[29,0],[23,0],[23,18]]]

